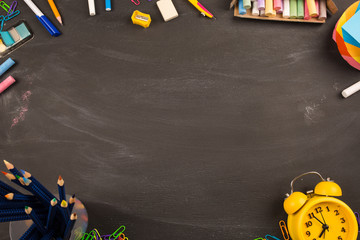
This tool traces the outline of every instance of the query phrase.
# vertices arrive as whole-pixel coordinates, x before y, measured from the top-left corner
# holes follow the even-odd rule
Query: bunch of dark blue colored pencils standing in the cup
[[[69,199],[69,204],[66,202],[65,185],[61,176],[57,182],[59,189],[59,199],[57,199],[29,172],[19,171],[5,160],[4,163],[11,173],[2,173],[11,182],[31,194],[23,194],[0,181],[0,222],[31,219],[33,224],[20,240],[69,239],[77,219],[76,213],[71,213],[75,196]]]

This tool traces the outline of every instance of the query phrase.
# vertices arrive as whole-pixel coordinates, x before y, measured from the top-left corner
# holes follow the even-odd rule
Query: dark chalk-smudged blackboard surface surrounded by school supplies
[[[61,174],[89,230],[125,225],[129,239],[280,237],[284,194],[310,170],[360,210],[360,94],[340,97],[360,75],[331,39],[353,1],[319,25],[237,19],[228,1],[203,1],[212,20],[173,2],[179,17],[164,23],[155,0],[113,0],[112,12],[96,1],[94,17],[85,0],[58,0],[60,27],[36,0],[63,33],[51,38],[20,1],[35,38],[1,77],[17,80],[0,95],[1,158],[52,191]],[[148,29],[131,23],[136,9]]]

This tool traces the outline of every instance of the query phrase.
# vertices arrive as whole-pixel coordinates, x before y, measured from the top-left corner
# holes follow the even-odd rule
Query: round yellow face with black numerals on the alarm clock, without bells
[[[299,234],[306,240],[356,240],[357,237],[354,213],[341,201],[312,205],[302,214],[300,222]]]

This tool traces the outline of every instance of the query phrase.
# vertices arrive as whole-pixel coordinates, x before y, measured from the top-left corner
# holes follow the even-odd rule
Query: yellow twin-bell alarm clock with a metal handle
[[[294,192],[294,182],[308,174],[321,178],[314,191],[307,194]],[[291,181],[284,209],[287,225],[293,240],[356,240],[358,223],[354,212],[343,201],[334,198],[342,195],[338,184],[325,180],[318,172],[303,173]]]

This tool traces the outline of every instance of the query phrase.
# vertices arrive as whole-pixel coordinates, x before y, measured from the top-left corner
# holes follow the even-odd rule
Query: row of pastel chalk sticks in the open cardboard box
[[[326,0],[239,0],[239,14],[251,9],[251,15],[310,20],[325,20]]]

